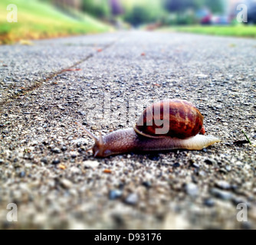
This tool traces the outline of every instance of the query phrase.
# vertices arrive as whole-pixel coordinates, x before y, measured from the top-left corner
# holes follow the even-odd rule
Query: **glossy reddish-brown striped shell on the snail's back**
[[[149,138],[164,136],[186,139],[197,135],[203,126],[203,116],[187,100],[162,100],[148,106],[134,127]]]

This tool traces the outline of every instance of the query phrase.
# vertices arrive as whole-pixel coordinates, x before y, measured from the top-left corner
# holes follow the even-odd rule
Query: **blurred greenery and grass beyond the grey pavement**
[[[247,22],[237,6],[248,8]],[[8,5],[17,6],[17,11]],[[17,14],[17,22],[15,15]],[[245,17],[244,15],[240,15]],[[1,0],[0,43],[117,29],[256,37],[255,0]]]

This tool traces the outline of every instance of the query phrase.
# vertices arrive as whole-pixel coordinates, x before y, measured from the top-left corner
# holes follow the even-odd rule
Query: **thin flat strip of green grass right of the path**
[[[232,36],[243,38],[256,38],[256,25],[234,25],[234,26],[175,26],[161,28],[162,31],[192,32],[197,34],[212,34],[218,36]]]

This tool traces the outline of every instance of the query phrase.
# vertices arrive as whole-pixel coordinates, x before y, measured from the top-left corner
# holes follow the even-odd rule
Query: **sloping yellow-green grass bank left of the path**
[[[9,23],[6,8],[15,4],[18,8],[18,22]],[[38,0],[0,1],[0,44],[9,44],[22,39],[56,38],[74,34],[110,31],[89,15],[73,11],[74,17],[64,14],[47,2]]]

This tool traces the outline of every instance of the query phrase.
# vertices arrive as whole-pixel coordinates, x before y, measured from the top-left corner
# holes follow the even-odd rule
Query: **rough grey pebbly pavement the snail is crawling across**
[[[255,229],[255,57],[253,39],[143,31],[1,46],[0,229]],[[164,98],[198,106],[222,142],[86,152],[76,121],[104,135]]]

